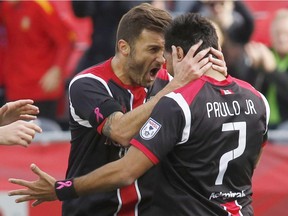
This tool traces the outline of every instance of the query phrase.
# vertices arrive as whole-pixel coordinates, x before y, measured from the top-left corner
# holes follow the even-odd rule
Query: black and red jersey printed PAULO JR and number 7
[[[160,166],[147,215],[253,215],[269,106],[250,84],[202,78],[163,97],[132,145]]]

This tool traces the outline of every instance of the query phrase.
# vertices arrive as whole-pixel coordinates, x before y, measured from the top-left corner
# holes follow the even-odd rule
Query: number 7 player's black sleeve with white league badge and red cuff
[[[131,144],[157,164],[181,141],[184,125],[185,119],[178,103],[163,97]]]

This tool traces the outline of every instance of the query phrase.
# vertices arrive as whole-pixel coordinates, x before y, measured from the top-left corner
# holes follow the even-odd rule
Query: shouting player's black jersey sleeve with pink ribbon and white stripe
[[[91,77],[76,77],[71,81],[69,103],[73,119],[86,127],[97,128],[112,113],[122,112],[108,86]]]

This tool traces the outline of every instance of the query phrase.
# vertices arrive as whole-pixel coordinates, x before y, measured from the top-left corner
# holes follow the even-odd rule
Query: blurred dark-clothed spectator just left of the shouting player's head
[[[92,21],[91,45],[80,59],[75,73],[100,63],[115,53],[115,38],[119,20],[131,8],[129,1],[71,1],[77,17]]]

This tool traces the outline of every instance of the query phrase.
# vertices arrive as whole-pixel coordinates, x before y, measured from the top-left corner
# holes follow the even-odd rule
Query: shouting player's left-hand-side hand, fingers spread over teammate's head
[[[201,50],[194,56],[202,43],[202,41],[199,41],[193,45],[181,61],[178,61],[176,47],[172,46],[173,82],[177,81],[180,86],[184,86],[190,81],[200,78],[211,68],[212,62],[209,62],[209,57],[205,57],[209,53],[210,48]]]

